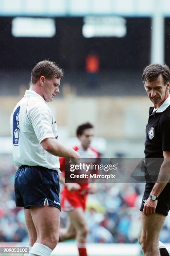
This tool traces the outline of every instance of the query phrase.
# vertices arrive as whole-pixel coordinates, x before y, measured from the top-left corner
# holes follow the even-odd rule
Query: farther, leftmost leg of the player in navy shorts
[[[33,223],[33,219],[30,214],[30,209],[24,208],[24,214],[25,214],[25,223],[28,229],[28,236],[29,236],[29,251],[34,243],[36,243],[37,240],[37,232],[36,228]],[[28,253],[25,253],[24,256],[28,255]]]

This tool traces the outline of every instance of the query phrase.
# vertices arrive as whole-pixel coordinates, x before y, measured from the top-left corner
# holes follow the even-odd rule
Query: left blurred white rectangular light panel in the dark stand
[[[53,37],[56,34],[52,18],[16,17],[12,20],[12,35],[15,37]]]

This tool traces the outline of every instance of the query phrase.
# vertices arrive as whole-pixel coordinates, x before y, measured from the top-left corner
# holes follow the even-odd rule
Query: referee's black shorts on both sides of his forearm
[[[140,207],[141,212],[143,211],[144,204],[147,198],[150,196],[150,193],[154,185],[155,185],[154,183],[146,183],[145,185],[145,192],[144,192],[144,195],[142,198],[142,204]],[[157,207],[155,211],[157,213],[167,216],[169,210],[170,210],[170,183],[167,183],[167,185],[162,190],[162,192],[160,193],[160,196],[157,199]]]

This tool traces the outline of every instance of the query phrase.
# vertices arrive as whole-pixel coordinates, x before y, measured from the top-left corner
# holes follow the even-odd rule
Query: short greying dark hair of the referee
[[[170,81],[170,68],[167,65],[151,64],[145,67],[142,74],[142,82],[145,84],[146,81],[152,82],[162,74],[164,84],[166,85]]]

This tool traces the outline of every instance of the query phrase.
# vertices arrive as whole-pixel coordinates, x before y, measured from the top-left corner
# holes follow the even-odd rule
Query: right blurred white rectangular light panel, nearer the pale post
[[[127,33],[126,20],[118,16],[86,16],[82,33],[86,38],[124,37]]]

